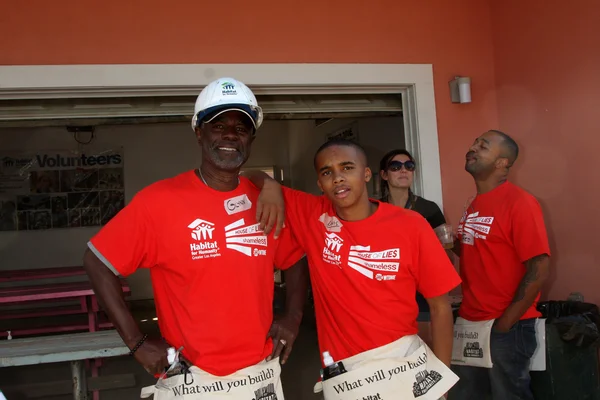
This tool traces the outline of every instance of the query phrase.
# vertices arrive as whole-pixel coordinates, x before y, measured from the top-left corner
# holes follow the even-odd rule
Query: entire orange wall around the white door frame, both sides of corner
[[[551,296],[581,290],[600,303],[598,0],[183,3],[0,0],[0,65],[431,63],[450,221],[474,192],[467,147],[488,128],[506,130],[522,148],[514,180],[547,218],[559,267]],[[450,103],[458,74],[473,79],[471,104]]]

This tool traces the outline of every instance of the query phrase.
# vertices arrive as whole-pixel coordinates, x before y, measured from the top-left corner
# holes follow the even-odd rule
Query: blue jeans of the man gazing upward
[[[448,400],[533,400],[529,361],[535,352],[535,319],[516,323],[506,333],[492,328],[492,368],[453,365],[460,380]]]

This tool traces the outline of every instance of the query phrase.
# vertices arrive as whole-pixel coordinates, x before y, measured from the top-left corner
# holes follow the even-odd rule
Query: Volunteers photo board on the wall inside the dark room
[[[0,156],[0,231],[105,225],[125,206],[121,151]]]

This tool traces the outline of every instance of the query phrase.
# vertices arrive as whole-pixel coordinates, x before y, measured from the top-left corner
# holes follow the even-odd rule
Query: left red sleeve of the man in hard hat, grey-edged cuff
[[[122,276],[156,264],[157,240],[150,213],[140,194],[115,215],[88,243],[107,267]]]

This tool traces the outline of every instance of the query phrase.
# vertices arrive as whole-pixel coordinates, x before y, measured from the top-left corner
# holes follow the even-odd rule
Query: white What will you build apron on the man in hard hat
[[[279,358],[262,361],[227,376],[215,376],[192,366],[186,373],[142,389],[154,400],[284,400]]]

